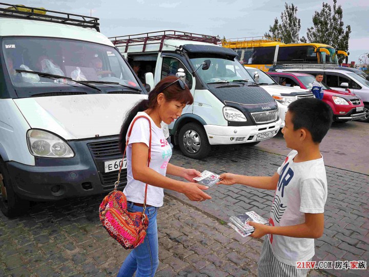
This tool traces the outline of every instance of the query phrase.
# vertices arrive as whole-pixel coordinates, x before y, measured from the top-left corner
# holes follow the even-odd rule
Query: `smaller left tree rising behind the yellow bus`
[[[281,24],[276,17],[274,25],[269,28],[269,33],[265,33],[264,36],[280,38],[283,43],[297,43],[301,29],[300,19],[297,18],[297,7],[294,4],[289,6],[284,3],[284,8],[281,13]]]

